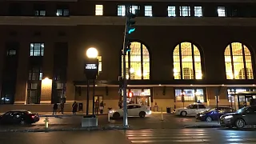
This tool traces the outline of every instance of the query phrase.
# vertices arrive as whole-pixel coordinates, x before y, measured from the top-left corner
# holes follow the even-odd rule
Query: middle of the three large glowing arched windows
[[[175,47],[174,79],[202,79],[201,55],[197,46],[182,42]]]

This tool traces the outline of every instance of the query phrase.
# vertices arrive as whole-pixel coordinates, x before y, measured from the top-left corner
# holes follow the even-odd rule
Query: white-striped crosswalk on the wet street
[[[211,143],[216,142],[213,130],[126,130],[124,134],[132,143]],[[252,144],[256,138],[245,138],[238,133],[214,133],[218,134],[222,144]]]

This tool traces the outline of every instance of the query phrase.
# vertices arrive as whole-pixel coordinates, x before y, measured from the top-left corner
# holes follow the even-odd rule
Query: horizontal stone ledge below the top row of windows
[[[70,16],[26,17],[0,16],[0,25],[15,26],[124,26],[124,17]],[[138,17],[137,26],[256,26],[256,18]]]

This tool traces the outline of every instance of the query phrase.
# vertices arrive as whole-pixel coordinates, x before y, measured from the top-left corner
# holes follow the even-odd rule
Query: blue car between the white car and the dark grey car
[[[233,110],[231,107],[227,106],[218,106],[210,109],[210,110],[205,110],[200,113],[198,113],[195,118],[200,120],[200,121],[206,121],[206,122],[212,122],[212,121],[217,121],[218,118],[220,118],[223,114],[228,114],[228,113],[233,113],[236,110]]]

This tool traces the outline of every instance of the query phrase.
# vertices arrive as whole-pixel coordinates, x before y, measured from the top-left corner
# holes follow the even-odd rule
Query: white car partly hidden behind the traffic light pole
[[[138,104],[129,104],[127,105],[127,114],[128,116],[139,116],[144,118],[146,115],[150,115],[152,112],[149,106],[140,106]],[[110,118],[122,118],[123,109],[110,110]]]

